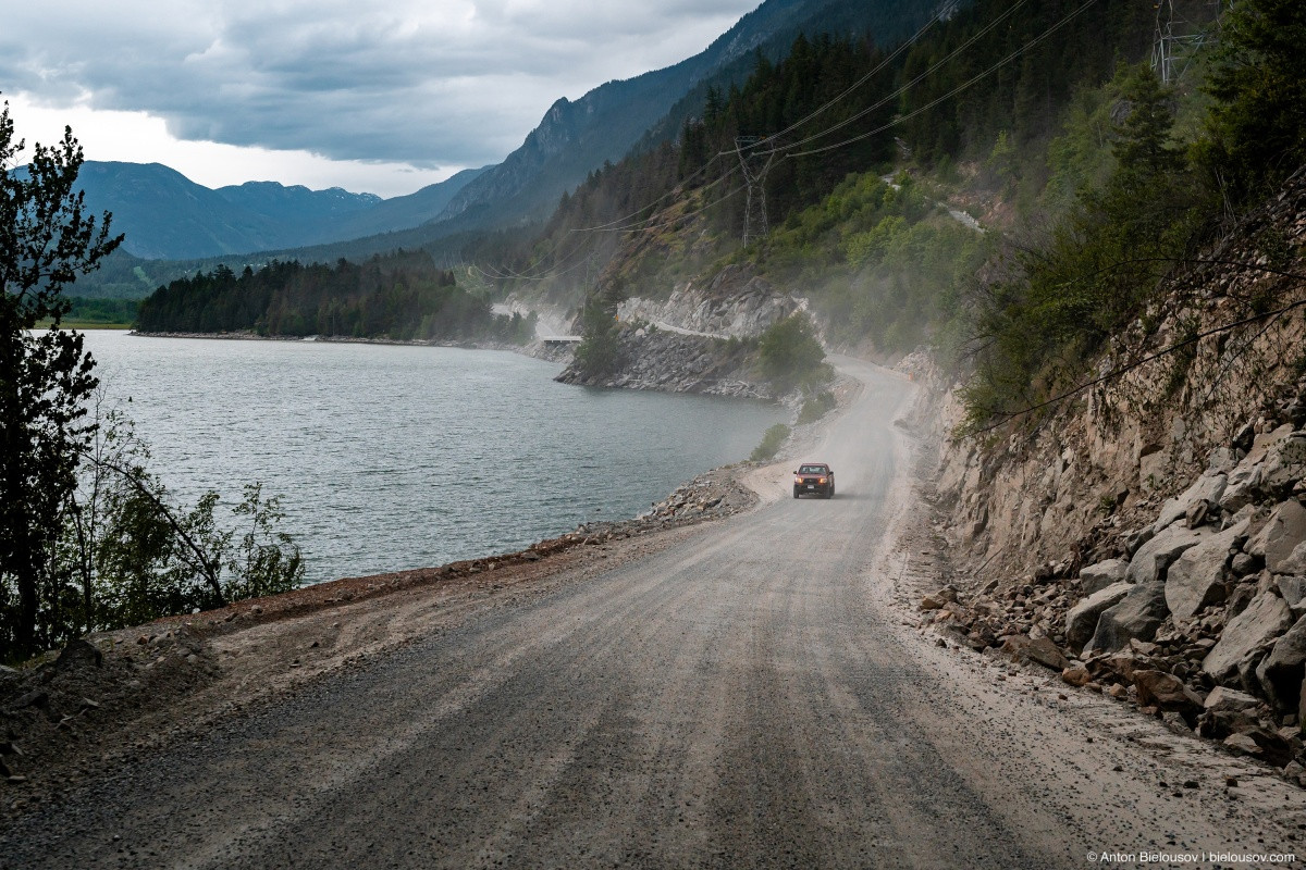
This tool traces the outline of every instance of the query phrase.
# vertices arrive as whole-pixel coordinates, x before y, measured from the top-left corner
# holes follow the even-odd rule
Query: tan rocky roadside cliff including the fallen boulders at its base
[[[936,487],[956,577],[922,607],[961,643],[1306,784],[1303,236],[1296,183],[1104,357],[1126,373],[998,441],[951,441]],[[953,398],[939,416],[960,420]]]

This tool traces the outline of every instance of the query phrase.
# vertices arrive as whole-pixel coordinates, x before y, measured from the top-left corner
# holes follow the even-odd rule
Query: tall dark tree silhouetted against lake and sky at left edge
[[[9,104],[0,110],[0,653],[39,648],[46,558],[93,424],[86,399],[94,360],[80,333],[61,329],[61,295],[77,275],[98,267],[123,237],[110,237],[110,215],[86,214],[77,190],[82,149],[72,129],[55,146],[37,145],[30,164],[14,140]],[[39,329],[42,326],[44,329]],[[42,591],[46,595],[42,595]],[[57,592],[57,591],[55,591]]]

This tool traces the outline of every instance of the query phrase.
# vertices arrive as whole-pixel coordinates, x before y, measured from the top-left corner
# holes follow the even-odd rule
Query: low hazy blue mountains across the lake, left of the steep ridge
[[[142,260],[197,260],[293,249],[410,230],[436,217],[485,170],[409,196],[247,181],[213,190],[159,163],[88,160],[78,183],[93,213],[114,214],[123,248]]]

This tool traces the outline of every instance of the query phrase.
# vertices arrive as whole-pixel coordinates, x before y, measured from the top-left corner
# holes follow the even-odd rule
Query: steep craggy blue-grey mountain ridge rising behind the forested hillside
[[[559,99],[521,147],[453,197],[440,222],[451,222],[453,231],[542,218],[590,171],[624,157],[696,85],[742,81],[754,52],[774,60],[799,33],[867,35],[891,44],[936,8],[936,0],[767,0],[693,57],[607,82],[577,100]]]

